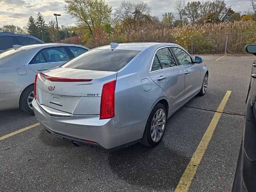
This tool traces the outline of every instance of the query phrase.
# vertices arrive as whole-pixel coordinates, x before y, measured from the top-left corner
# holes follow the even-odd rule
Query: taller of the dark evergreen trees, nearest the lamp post
[[[39,39],[44,42],[50,42],[50,34],[48,32],[47,24],[45,23],[44,17],[40,12],[36,16],[36,26],[39,29]]]

